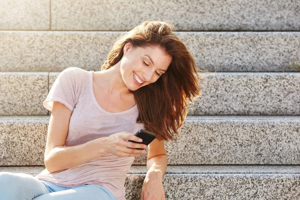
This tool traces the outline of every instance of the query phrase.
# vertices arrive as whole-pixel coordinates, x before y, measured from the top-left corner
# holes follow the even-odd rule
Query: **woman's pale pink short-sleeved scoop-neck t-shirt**
[[[55,79],[43,106],[52,111],[52,103],[59,101],[72,111],[65,146],[74,146],[87,141],[127,131],[132,134],[144,129],[136,123],[137,105],[120,112],[108,112],[97,102],[92,89],[93,71],[78,67],[62,70]],[[125,178],[134,156],[104,156],[75,167],[48,172],[44,169],[35,177],[64,187],[82,184],[98,184],[111,191],[118,200],[125,199]]]

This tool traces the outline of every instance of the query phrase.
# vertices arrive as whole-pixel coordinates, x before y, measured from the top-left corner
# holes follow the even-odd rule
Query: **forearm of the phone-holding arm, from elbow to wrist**
[[[75,146],[56,146],[44,164],[51,173],[77,166],[107,154],[104,142],[105,137],[101,137]]]

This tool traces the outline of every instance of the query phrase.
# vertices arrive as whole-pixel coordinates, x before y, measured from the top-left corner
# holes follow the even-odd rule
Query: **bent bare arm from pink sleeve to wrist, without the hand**
[[[53,101],[44,153],[44,164],[51,173],[77,166],[108,153],[104,148],[106,137],[80,145],[64,146],[71,114],[71,110],[64,104]]]

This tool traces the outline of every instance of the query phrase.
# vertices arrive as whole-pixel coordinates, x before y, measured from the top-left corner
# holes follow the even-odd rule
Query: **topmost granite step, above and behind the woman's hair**
[[[0,13],[0,29],[126,30],[157,19],[179,30],[300,29],[298,0],[4,0]]]

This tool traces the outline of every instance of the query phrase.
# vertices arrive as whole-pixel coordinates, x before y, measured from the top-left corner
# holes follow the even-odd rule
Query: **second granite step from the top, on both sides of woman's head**
[[[0,31],[0,46],[4,46],[0,48],[0,71],[62,71],[70,66],[99,70],[122,33]],[[174,33],[202,70],[282,72],[300,69],[292,66],[300,60],[300,32]]]

